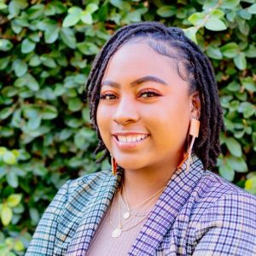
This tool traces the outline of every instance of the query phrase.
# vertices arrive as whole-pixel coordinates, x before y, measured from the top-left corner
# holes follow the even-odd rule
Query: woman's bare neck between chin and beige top
[[[125,170],[123,186],[130,206],[135,206],[141,201],[154,195],[160,189],[165,188],[166,184],[177,170],[181,161],[170,160],[162,163],[161,166],[155,165],[137,170]]]

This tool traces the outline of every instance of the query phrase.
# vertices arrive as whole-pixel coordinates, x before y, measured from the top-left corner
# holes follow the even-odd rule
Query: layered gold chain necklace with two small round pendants
[[[148,217],[148,213],[150,211],[148,211],[146,213],[145,212],[140,213],[140,212],[137,211],[137,212],[134,213],[134,209],[139,210],[142,207],[146,206],[149,202],[153,201],[157,196],[159,196],[164,189],[165,188],[162,188],[162,189],[158,190],[156,193],[154,193],[154,195],[151,195],[145,201],[137,204],[134,207],[130,207],[129,202],[127,200],[127,197],[125,195],[125,187],[123,186],[122,189],[120,189],[120,191],[119,191],[120,195],[119,195],[119,200],[117,201],[118,206],[119,206],[119,222],[118,222],[118,224],[113,224],[112,218],[111,218],[113,203],[110,207],[109,224],[113,228],[112,237],[118,238],[119,236],[121,236],[122,232],[127,231],[127,230],[131,230],[132,228],[136,227],[138,224],[141,224],[143,222],[143,220]],[[122,193],[121,193],[122,190],[124,192],[123,194],[124,194],[124,199],[125,199],[125,200],[123,200],[123,201],[125,201],[125,208],[126,208],[125,212],[122,212],[121,204],[120,204],[120,200],[123,199],[122,198]],[[126,224],[129,224],[130,220],[132,220],[133,218],[136,218],[136,217],[143,217],[143,218],[139,219],[136,224],[132,224],[131,226],[126,227]]]

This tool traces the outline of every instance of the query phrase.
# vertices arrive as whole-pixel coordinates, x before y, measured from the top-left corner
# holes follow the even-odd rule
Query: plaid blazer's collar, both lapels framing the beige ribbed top
[[[186,172],[186,161],[174,172],[166,189],[149,213],[129,255],[154,255],[163,236],[172,228],[178,212],[188,201],[189,195],[202,176],[202,171],[201,160],[192,154],[189,172]],[[109,175],[102,186],[91,195],[90,205],[83,212],[83,218],[68,245],[67,256],[86,254],[90,241],[107,212],[115,191],[119,188],[121,179],[122,172],[118,172],[116,176]]]

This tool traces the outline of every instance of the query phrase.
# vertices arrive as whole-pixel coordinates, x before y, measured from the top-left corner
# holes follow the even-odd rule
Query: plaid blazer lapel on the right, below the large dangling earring
[[[178,212],[189,199],[195,185],[202,176],[202,164],[195,154],[192,155],[189,173],[186,162],[178,169],[167,183],[166,189],[149,213],[143,229],[133,243],[129,255],[154,255],[163,236],[172,229]]]

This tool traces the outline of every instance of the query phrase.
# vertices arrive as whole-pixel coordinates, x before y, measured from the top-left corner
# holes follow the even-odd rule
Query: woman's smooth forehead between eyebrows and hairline
[[[160,55],[146,43],[128,43],[110,58],[102,81],[137,79],[148,75],[163,80],[181,79],[174,59]]]

